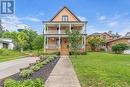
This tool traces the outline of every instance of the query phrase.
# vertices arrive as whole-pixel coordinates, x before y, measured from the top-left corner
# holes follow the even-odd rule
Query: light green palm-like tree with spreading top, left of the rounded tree
[[[33,50],[33,40],[37,37],[37,32],[31,29],[25,29],[22,32],[24,32],[28,36],[26,48]]]

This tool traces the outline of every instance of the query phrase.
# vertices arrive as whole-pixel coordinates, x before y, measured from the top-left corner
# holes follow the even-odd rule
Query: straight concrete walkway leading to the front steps
[[[80,87],[68,56],[62,56],[54,67],[45,87]]]

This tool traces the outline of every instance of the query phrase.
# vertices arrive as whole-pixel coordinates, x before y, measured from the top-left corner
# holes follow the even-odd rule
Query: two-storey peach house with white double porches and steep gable
[[[69,52],[68,35],[66,30],[79,30],[82,35],[81,51],[85,51],[86,45],[86,23],[81,21],[67,7],[63,7],[50,21],[44,24],[44,52]]]

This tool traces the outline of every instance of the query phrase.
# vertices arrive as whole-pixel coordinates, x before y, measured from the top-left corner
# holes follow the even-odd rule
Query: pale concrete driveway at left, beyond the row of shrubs
[[[38,60],[38,58],[27,57],[0,63],[0,79],[19,72],[20,68],[25,68],[29,66],[30,63],[36,62],[36,60]]]

